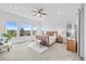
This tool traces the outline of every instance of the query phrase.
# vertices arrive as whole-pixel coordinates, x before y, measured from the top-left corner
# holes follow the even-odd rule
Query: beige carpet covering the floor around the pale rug
[[[41,54],[28,47],[29,42],[13,46],[10,52],[1,52],[1,61],[79,61],[76,53],[66,51],[66,44],[54,43]]]

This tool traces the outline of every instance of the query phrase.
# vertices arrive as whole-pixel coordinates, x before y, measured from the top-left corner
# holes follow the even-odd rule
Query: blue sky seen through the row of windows
[[[21,25],[21,27],[20,28],[24,28],[24,30],[30,30],[32,29],[32,25],[29,25],[29,24],[23,24],[23,25]],[[9,29],[9,30],[16,30],[17,29],[17,24],[16,24],[16,22],[14,22],[14,21],[9,21],[9,22],[7,22],[5,23],[5,29]],[[36,30],[37,29],[37,27],[33,27],[33,29],[34,30]]]

